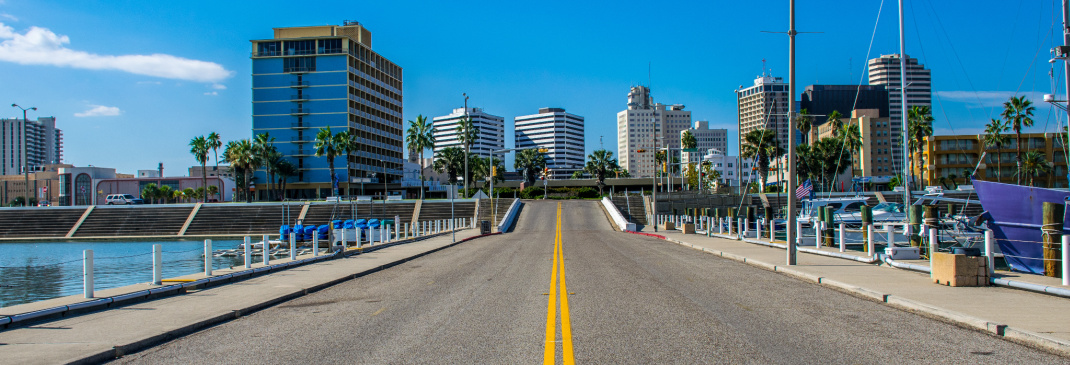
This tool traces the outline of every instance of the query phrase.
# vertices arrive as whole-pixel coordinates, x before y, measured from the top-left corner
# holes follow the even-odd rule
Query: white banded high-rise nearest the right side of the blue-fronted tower
[[[472,143],[470,151],[473,154],[487,157],[491,151],[505,149],[505,118],[489,115],[483,108],[469,108],[468,117],[472,125],[479,128],[479,137]],[[457,108],[447,116],[434,117],[431,124],[434,125],[434,152],[449,147],[460,147],[457,125],[464,118],[464,108]]]

